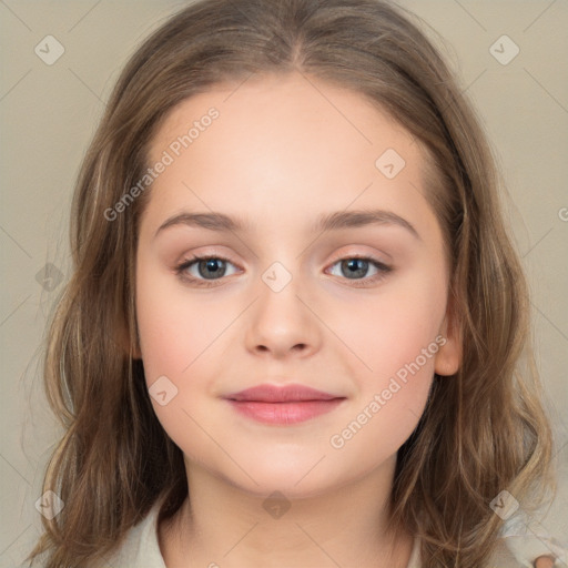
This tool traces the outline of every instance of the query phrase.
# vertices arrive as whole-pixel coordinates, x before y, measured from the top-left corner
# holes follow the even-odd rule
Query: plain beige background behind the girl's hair
[[[428,33],[459,73],[509,183],[507,210],[534,294],[535,345],[561,471],[560,494],[542,526],[566,541],[568,3],[402,3],[426,20]],[[183,4],[0,1],[1,567],[18,566],[38,535],[34,503],[58,435],[40,367],[44,324],[62,283],[50,291],[40,285],[40,271],[49,262],[63,281],[69,276],[67,224],[73,182],[104,101],[139,42]],[[64,47],[52,65],[34,53],[49,34]],[[489,51],[503,34],[520,49],[506,65]]]

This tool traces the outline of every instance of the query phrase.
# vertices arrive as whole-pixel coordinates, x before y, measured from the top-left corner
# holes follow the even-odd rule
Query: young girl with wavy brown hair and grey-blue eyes
[[[174,16],[80,173],[45,362],[67,434],[29,559],[515,566],[501,529],[551,442],[498,186],[402,9]]]

